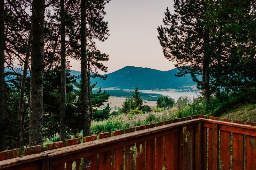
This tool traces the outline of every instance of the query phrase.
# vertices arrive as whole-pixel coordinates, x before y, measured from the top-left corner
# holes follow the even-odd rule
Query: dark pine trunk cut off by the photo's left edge
[[[5,82],[4,82],[4,0],[0,0],[0,151],[5,150],[5,111],[4,111],[4,96],[5,96]]]

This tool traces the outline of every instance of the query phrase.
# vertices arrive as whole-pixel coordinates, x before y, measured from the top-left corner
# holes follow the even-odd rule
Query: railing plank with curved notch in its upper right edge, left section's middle
[[[127,128],[124,129],[125,133],[134,132],[135,128]],[[134,142],[135,143],[135,142]],[[124,147],[125,149],[125,170],[135,169],[135,161],[133,160],[133,151],[130,148],[134,146],[134,144],[127,145]]]

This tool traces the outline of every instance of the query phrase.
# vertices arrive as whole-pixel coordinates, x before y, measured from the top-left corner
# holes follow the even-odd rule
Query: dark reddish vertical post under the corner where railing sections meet
[[[202,122],[196,123],[195,127],[195,170],[201,169],[202,159]]]

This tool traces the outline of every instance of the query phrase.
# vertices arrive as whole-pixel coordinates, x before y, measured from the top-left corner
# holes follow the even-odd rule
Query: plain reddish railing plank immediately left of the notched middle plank
[[[113,132],[113,136],[124,134],[124,130]],[[124,147],[113,151],[113,170],[124,170]]]

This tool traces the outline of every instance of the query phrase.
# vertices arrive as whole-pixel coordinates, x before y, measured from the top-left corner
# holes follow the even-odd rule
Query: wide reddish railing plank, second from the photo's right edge
[[[243,121],[233,120],[233,123],[243,124]],[[233,164],[232,169],[244,169],[244,135],[233,133]]]

